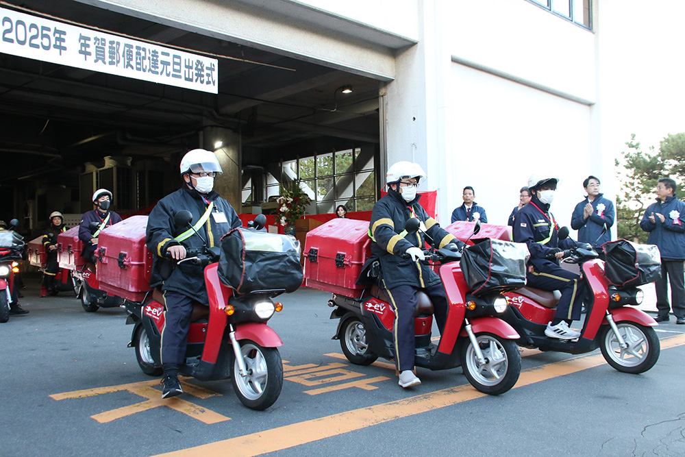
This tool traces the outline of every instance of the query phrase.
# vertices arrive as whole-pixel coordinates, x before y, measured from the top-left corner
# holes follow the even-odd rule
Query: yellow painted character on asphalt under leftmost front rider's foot
[[[180,378],[185,393],[200,399],[221,396],[220,393],[212,392],[206,388],[188,384],[185,382],[186,379],[188,378]],[[230,417],[222,416],[217,412],[207,410],[184,399],[179,399],[178,397],[162,399],[160,391],[151,387],[159,383],[159,380],[133,382],[131,384],[120,384],[119,386],[88,388],[83,391],[55,393],[54,395],[50,395],[50,397],[55,400],[63,400],[68,398],[84,398],[92,397],[94,395],[102,395],[105,393],[128,391],[130,393],[139,395],[140,397],[147,398],[147,402],[123,406],[122,408],[117,408],[115,410],[105,411],[97,415],[90,416],[92,419],[95,419],[100,423],[114,421],[114,419],[121,419],[121,417],[130,416],[136,412],[145,411],[152,408],[157,408],[158,406],[166,406],[167,408],[182,412],[185,415],[208,424],[229,421],[231,419]]]

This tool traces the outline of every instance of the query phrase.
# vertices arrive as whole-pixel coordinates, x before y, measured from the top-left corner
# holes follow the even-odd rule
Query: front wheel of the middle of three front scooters
[[[482,393],[499,395],[516,384],[521,374],[521,354],[512,340],[492,334],[476,336],[485,363],[479,364],[471,341],[462,346],[462,370],[472,386]]]

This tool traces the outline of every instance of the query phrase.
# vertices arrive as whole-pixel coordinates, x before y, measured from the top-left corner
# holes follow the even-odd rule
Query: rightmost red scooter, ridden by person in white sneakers
[[[568,236],[566,227],[560,230],[560,240],[564,235]],[[626,306],[640,304],[643,291],[636,286],[612,286],[604,275],[604,262],[597,259],[597,251],[589,243],[575,242],[575,247],[564,254],[564,262],[580,264],[581,280],[586,284],[587,314],[580,338],[545,336],[559,296],[523,287],[505,294],[510,306],[501,316],[521,335],[516,343],[569,354],[584,354],[599,347],[608,364],[624,373],[643,373],[653,367],[660,353],[659,338],[653,329],[658,324],[642,310]]]

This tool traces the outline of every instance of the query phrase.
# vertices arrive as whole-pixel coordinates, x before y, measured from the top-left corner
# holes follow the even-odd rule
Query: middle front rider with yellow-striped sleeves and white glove
[[[440,277],[424,260],[424,237],[421,231],[408,234],[404,230],[410,218],[419,219],[420,227],[430,237],[434,247],[448,243],[461,243],[426,214],[416,195],[419,180],[425,177],[421,166],[412,162],[397,162],[386,174],[388,195],[373,206],[369,235],[371,254],[381,264],[382,286],[390,296],[390,306],[395,310],[393,335],[395,342],[395,365],[399,371],[399,385],[406,388],[418,386],[421,380],[414,375],[414,310],[417,293],[424,291],[433,302],[435,319],[440,333],[447,321],[447,297]],[[426,237],[428,238],[428,237]],[[409,258],[403,258],[408,254]]]

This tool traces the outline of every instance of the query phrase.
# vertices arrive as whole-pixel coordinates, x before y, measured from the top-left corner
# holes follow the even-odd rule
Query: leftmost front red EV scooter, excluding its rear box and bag
[[[190,212],[176,214],[177,227],[190,226]],[[258,216],[255,230],[264,227],[266,218]],[[192,227],[192,226],[190,226]],[[281,393],[283,365],[278,347],[281,338],[266,324],[275,311],[282,310],[272,299],[285,292],[270,289],[237,295],[219,280],[216,263],[219,247],[186,248],[186,258],[179,260],[205,267],[209,308],[196,304],[190,318],[188,348],[180,372],[197,380],[232,379],[240,402],[254,410],[269,408]],[[134,324],[129,347],[136,349],[143,373],[162,374],[160,348],[164,328],[164,298],[159,289],[141,302],[125,300],[129,313],[126,323]],[[207,319],[208,318],[208,319]]]

